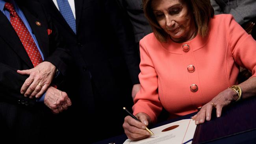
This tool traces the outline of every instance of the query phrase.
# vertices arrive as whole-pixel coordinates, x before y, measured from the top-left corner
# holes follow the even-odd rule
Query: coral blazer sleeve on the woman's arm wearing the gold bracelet
[[[234,20],[232,15],[225,18],[226,34],[235,62],[256,76],[256,41]]]

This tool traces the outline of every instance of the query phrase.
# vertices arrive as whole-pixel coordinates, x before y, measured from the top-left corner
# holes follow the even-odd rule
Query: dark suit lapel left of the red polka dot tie
[[[0,26],[0,37],[2,37],[9,44],[9,46],[16,52],[17,55],[20,56],[26,65],[28,65],[30,68],[33,68],[33,64],[30,61],[24,46],[20,42],[16,31],[13,29],[11,23],[2,12],[0,12]]]

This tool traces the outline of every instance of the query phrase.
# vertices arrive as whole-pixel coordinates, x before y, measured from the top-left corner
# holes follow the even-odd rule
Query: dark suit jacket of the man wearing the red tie
[[[65,75],[70,55],[64,48],[57,48],[58,33],[41,4],[26,0],[17,1],[17,4],[37,38],[45,61],[54,64],[61,75]],[[41,26],[37,26],[37,21]],[[43,124],[46,124],[46,121],[42,121],[47,113],[45,110],[50,109],[43,103],[37,103],[35,99],[25,98],[20,94],[20,88],[28,76],[22,76],[16,71],[31,69],[33,65],[17,33],[2,12],[0,26],[0,127],[3,127],[1,138],[8,139],[11,136],[9,140],[19,141],[19,138],[30,137],[30,142],[38,142],[40,139],[37,138],[44,138],[41,133]],[[52,30],[50,35],[47,29]],[[28,139],[22,142],[28,142]]]

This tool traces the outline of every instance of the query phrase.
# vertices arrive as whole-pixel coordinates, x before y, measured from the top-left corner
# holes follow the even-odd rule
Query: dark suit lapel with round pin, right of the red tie
[[[33,2],[32,2],[33,3]],[[24,13],[31,29],[32,29],[32,33],[35,35],[37,42],[39,44],[39,47],[41,49],[41,51],[43,52],[44,57],[48,57],[49,55],[49,48],[48,48],[48,44],[49,44],[49,39],[48,39],[48,35],[47,35],[47,28],[46,26],[44,26],[43,22],[41,22],[37,17],[37,11],[33,8],[35,8],[35,5],[33,5],[32,3],[28,4],[30,7],[30,11],[28,11],[28,9],[26,9],[25,7],[20,6],[20,9],[22,9],[22,12]],[[33,13],[33,15],[32,15]],[[37,22],[40,22],[40,26],[37,25]]]

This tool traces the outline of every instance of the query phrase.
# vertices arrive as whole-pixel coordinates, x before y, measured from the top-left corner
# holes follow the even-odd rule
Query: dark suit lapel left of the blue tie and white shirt
[[[61,13],[59,12],[59,10],[57,9],[57,7],[55,6],[52,0],[44,0],[42,1],[42,3],[45,3],[46,9],[49,10],[48,13],[54,13],[54,15],[51,15],[52,17],[55,17],[60,24],[64,25],[70,33],[75,35],[74,31],[70,28],[69,24],[66,22],[65,18],[61,15]]]

